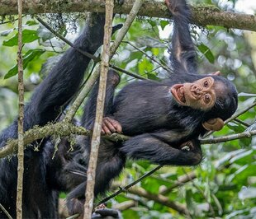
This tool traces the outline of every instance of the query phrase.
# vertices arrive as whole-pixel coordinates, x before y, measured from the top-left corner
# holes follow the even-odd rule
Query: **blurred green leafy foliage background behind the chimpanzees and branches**
[[[230,2],[235,3],[235,1]],[[29,100],[31,91],[58,59],[50,57],[58,57],[67,46],[40,26],[36,19],[26,16],[24,21],[26,22],[23,27],[25,87],[26,100]],[[116,16],[116,23],[123,21],[123,16]],[[66,25],[61,26],[61,32],[68,33],[69,40],[73,40],[75,36],[70,31],[66,31],[71,25]],[[162,31],[166,29],[171,30],[168,21],[139,18],[131,26],[125,40],[165,64],[168,39],[166,35],[163,36]],[[0,130],[2,130],[17,115],[17,77],[15,76],[17,22],[1,25],[0,31]],[[242,30],[226,30],[217,26],[207,26],[204,29],[193,26],[192,35],[197,45],[200,72],[220,70],[222,75],[235,83],[239,91],[238,112],[249,105],[254,105],[256,34]],[[111,61],[114,65],[153,80],[164,77],[163,68],[159,67],[158,63],[147,58],[127,42],[121,44]],[[40,71],[47,59],[50,60],[49,64]],[[134,80],[133,77],[121,74],[120,88]],[[255,107],[239,116],[239,119],[244,123],[233,120],[211,137],[241,133],[248,128],[254,130]],[[204,160],[201,165],[196,168],[164,166],[137,185],[145,193],[152,194],[154,198],[145,198],[135,191],[121,193],[108,203],[108,207],[122,207],[124,218],[256,218],[255,140],[255,137],[247,137],[214,145],[203,145]],[[138,179],[153,168],[154,165],[147,161],[128,161],[126,170],[115,180],[111,192],[118,186],[124,186]],[[190,179],[187,175],[194,177]],[[187,177],[187,182],[177,184],[181,177]],[[164,193],[166,189],[168,192]],[[160,203],[155,199],[159,195],[160,198],[187,207],[189,215],[184,216],[164,202]]]

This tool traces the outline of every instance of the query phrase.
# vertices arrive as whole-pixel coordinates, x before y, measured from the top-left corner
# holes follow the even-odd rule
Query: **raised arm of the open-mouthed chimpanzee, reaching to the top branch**
[[[192,43],[188,22],[191,12],[186,1],[165,0],[173,15],[174,28],[170,60],[175,72],[197,72],[196,51]]]

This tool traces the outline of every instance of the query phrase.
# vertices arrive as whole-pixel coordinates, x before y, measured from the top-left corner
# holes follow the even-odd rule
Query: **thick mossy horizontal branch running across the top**
[[[123,5],[116,5],[115,13],[128,14],[135,0],[126,0]],[[105,1],[54,1],[26,0],[23,12],[26,14],[59,13],[59,12],[105,12]],[[16,0],[0,0],[0,15],[17,14]],[[164,2],[147,1],[139,12],[140,16],[169,18],[170,13]],[[199,26],[225,26],[241,30],[256,31],[256,17],[242,13],[223,12],[214,6],[192,7],[192,22]]]

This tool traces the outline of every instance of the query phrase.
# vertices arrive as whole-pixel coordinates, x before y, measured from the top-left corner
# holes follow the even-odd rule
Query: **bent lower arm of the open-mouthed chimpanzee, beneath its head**
[[[166,132],[164,134],[145,133],[131,137],[120,150],[132,159],[145,159],[161,165],[198,165],[200,163],[201,146],[197,139],[174,146],[174,143],[169,143],[170,140],[164,137],[166,134]],[[172,131],[168,137],[172,138]],[[183,150],[185,145],[189,148]]]

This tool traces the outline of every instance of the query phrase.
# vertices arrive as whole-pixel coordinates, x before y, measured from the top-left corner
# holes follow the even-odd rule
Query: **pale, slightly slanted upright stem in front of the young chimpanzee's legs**
[[[112,32],[112,17],[114,9],[114,0],[106,0],[106,19],[104,26],[104,40],[101,62],[101,75],[97,94],[96,116],[92,131],[92,143],[90,159],[87,170],[87,182],[85,191],[85,203],[83,219],[90,219],[92,217],[94,188],[97,167],[97,155],[101,142],[102,119],[104,114],[104,104],[107,89],[107,72],[110,60],[110,43]]]

